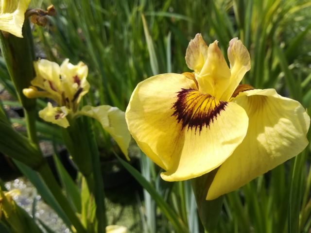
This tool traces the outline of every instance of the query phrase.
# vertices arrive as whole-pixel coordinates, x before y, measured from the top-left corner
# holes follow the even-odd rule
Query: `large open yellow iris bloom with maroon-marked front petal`
[[[274,89],[239,85],[250,69],[241,40],[229,43],[228,67],[217,41],[190,41],[193,73],[160,74],[138,83],[125,112],[141,150],[166,171],[166,181],[199,177],[219,167],[207,200],[233,191],[301,152],[310,117]]]

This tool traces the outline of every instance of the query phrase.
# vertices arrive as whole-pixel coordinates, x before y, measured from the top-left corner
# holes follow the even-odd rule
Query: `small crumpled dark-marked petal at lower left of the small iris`
[[[48,106],[39,111],[39,116],[45,121],[67,128],[69,122],[66,116],[69,114],[69,109],[65,106],[53,107],[52,103],[48,102]]]

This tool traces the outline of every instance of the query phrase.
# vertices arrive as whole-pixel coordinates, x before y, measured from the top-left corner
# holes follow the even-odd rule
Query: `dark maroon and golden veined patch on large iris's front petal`
[[[182,128],[186,126],[195,131],[202,131],[203,127],[209,127],[211,122],[225,110],[227,102],[217,100],[211,95],[202,94],[194,89],[181,89],[177,92],[177,100],[173,104],[174,113],[178,123],[182,122]]]

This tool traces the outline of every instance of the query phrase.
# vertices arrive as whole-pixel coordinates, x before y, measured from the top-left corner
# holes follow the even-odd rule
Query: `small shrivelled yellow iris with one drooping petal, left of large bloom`
[[[41,59],[34,63],[36,77],[31,81],[32,86],[23,89],[28,98],[46,97],[54,100],[39,116],[45,121],[61,127],[69,127],[67,116],[90,116],[97,119],[104,130],[110,133],[128,158],[127,148],[131,140],[127,130],[125,114],[120,109],[109,105],[97,107],[84,106],[78,110],[81,98],[89,91],[90,85],[86,80],[88,68],[83,62],[77,65],[66,59],[61,66],[57,63]]]

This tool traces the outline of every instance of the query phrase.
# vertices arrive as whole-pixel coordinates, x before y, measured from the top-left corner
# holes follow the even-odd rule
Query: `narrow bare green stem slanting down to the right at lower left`
[[[72,210],[72,207],[69,204],[69,201],[66,199],[62,193],[59,184],[55,180],[55,177],[51,171],[50,166],[47,163],[44,163],[38,168],[38,173],[41,175],[42,179],[45,181],[46,185],[49,187],[51,193],[58,201],[59,205],[62,207],[63,211],[68,216],[72,225],[78,233],[86,233],[86,229],[83,227],[79,218],[76,216],[75,212]]]

